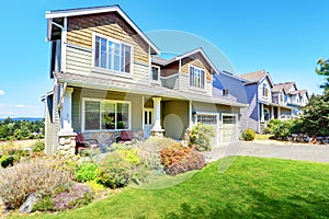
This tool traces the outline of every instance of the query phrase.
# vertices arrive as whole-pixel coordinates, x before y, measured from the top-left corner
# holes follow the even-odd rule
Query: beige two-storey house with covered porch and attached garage
[[[220,73],[202,48],[161,58],[118,5],[48,11],[46,20],[46,153],[72,153],[77,132],[105,145],[122,130],[183,139],[196,123],[213,126],[213,143],[237,139],[247,104],[214,95]]]

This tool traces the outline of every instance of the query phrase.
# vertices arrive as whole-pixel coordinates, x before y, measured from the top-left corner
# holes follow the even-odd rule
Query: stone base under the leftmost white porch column
[[[76,132],[58,134],[57,154],[64,159],[73,158],[76,154]]]

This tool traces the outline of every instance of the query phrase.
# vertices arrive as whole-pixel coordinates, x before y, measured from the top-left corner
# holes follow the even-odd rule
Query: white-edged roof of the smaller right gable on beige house
[[[169,64],[171,64],[173,61],[178,61],[180,59],[186,58],[186,57],[192,56],[192,55],[197,54],[197,53],[200,53],[201,56],[206,60],[206,62],[211,66],[211,68],[213,69],[213,71],[218,74],[218,71],[217,71],[215,65],[211,61],[209,57],[206,55],[206,53],[203,50],[202,47],[193,49],[193,50],[188,51],[188,53],[184,53],[182,55],[175,56],[175,57],[173,57],[173,58],[171,58],[169,60],[163,59],[161,57],[154,56],[152,57],[152,62],[159,64],[159,65],[162,65],[162,66],[167,66],[167,65],[169,65]]]

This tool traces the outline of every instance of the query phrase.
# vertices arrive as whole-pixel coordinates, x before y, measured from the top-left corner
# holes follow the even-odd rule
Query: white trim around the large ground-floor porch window
[[[86,130],[84,122],[86,122],[86,102],[87,101],[93,101],[93,102],[100,102],[100,103],[128,103],[129,104],[129,122],[128,122],[128,128],[127,129],[97,129],[97,130]],[[102,113],[100,111],[100,113]],[[115,107],[115,116],[116,116],[116,107]],[[101,118],[101,116],[100,116]],[[116,118],[115,118],[116,120]],[[100,127],[101,127],[101,119],[100,119]],[[102,100],[102,99],[90,99],[90,97],[82,97],[82,111],[81,111],[81,131],[88,131],[88,132],[100,132],[100,131],[118,131],[118,130],[129,130],[132,129],[132,102],[131,101],[117,101],[117,100]]]

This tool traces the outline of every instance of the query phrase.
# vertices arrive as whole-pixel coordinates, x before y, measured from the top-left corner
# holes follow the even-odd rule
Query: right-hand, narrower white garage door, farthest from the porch
[[[229,142],[238,140],[237,115],[223,115],[222,118],[222,141]]]

